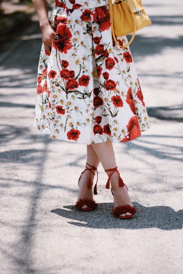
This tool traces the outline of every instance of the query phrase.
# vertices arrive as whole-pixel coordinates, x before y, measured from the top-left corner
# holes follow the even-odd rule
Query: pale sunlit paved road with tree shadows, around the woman
[[[36,17],[0,55],[0,273],[183,273],[183,3],[146,0],[153,25],[131,50],[150,116],[140,138],[115,144],[138,214],[112,216],[99,167],[100,203],[73,209],[86,146],[52,140],[33,127],[41,36]],[[181,3],[180,3],[181,2]]]

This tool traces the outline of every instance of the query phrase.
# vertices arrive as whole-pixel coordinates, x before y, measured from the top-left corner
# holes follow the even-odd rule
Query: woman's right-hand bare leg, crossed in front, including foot
[[[92,144],[92,146],[98,158],[100,159],[104,169],[109,169],[117,166],[113,144],[111,141],[95,143]],[[107,171],[106,173],[109,176],[110,171]],[[111,186],[114,191],[114,207],[126,204],[132,205],[126,186],[119,187],[118,180],[119,175],[117,174],[117,172],[114,172],[110,178]],[[126,213],[126,215],[131,215],[131,213],[128,212]]]

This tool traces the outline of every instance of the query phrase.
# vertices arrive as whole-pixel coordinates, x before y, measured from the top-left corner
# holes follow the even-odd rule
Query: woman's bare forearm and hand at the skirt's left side
[[[39,18],[39,25],[42,31],[42,42],[46,51],[50,53],[55,30],[49,24],[47,0],[32,0],[32,2]]]

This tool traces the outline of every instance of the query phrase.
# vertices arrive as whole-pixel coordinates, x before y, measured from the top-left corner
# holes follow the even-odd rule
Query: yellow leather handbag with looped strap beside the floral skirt
[[[112,35],[119,46],[116,36],[133,33],[130,42],[120,46],[123,48],[132,43],[137,30],[152,24],[142,0],[115,0],[114,3],[112,3],[112,0],[109,0],[109,12]]]

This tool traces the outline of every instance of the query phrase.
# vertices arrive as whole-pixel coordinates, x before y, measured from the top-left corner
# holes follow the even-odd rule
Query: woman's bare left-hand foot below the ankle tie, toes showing
[[[89,165],[86,164],[87,167],[90,168]],[[95,172],[95,170],[93,170],[93,172]],[[77,197],[77,201],[79,199],[93,199],[93,193],[92,193],[92,189],[87,188],[87,182],[90,179],[90,175],[91,175],[91,180],[94,180],[94,174],[92,174],[89,170],[86,170],[82,176],[81,179],[79,181],[79,194]],[[82,209],[87,209],[87,205],[82,206]]]

